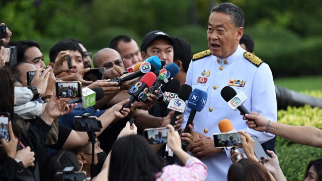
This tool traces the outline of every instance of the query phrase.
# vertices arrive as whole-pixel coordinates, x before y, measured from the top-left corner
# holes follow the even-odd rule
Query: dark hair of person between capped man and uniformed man
[[[191,46],[183,38],[175,36],[171,38],[175,42],[173,46],[173,62],[181,61],[184,72],[187,72],[192,58]]]

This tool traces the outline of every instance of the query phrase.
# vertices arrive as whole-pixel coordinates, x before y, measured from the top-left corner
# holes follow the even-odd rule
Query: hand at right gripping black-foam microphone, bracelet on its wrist
[[[254,120],[254,121],[248,120],[246,122],[246,125],[248,125],[248,128],[254,129],[259,132],[266,131],[268,119],[265,118],[262,114],[257,113],[257,112],[251,112],[251,114],[245,114],[245,116],[243,116],[243,119],[244,120],[247,120],[247,119]],[[258,125],[258,127],[256,127],[254,122]]]

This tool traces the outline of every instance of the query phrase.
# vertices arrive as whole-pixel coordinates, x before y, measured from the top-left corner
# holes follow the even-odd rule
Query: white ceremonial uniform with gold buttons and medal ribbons
[[[186,84],[193,89],[198,88],[206,91],[208,99],[201,112],[197,112],[194,118],[194,130],[198,133],[211,137],[213,133],[220,133],[218,122],[227,118],[234,129],[244,130],[251,136],[257,136],[261,143],[264,143],[274,135],[265,132],[257,132],[249,129],[243,116],[239,111],[232,110],[227,102],[221,97],[220,91],[228,86],[230,80],[246,81],[244,87],[232,87],[237,93],[244,91],[248,99],[244,106],[249,111],[261,113],[264,117],[276,122],[277,104],[272,72],[265,63],[256,66],[244,57],[245,50],[238,45],[236,51],[227,58],[218,58],[210,54],[200,59],[191,61],[187,72]],[[255,55],[254,55],[255,56]],[[259,60],[259,58],[257,59]],[[236,85],[236,84],[235,84]],[[186,106],[184,113],[184,129],[191,109]],[[226,180],[229,166],[231,165],[230,155],[221,152],[215,156],[209,156],[201,160],[208,167],[206,180]]]

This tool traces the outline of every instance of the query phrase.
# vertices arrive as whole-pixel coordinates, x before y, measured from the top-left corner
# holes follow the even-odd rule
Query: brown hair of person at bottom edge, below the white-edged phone
[[[270,181],[270,175],[266,168],[259,162],[252,159],[241,159],[230,165],[227,181],[240,180],[263,180]]]

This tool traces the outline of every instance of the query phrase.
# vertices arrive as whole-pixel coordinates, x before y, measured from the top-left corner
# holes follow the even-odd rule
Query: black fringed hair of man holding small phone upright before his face
[[[55,63],[56,57],[60,51],[73,50],[78,51],[82,54],[82,59],[84,58],[84,52],[78,43],[71,39],[63,39],[52,46],[49,50],[49,61]]]

